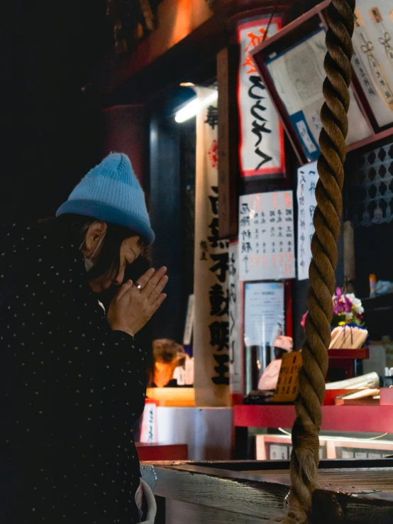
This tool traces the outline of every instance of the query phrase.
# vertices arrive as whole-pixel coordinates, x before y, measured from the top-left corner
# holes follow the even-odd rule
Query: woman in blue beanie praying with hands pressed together
[[[139,522],[133,424],[145,402],[135,334],[166,269],[123,283],[154,234],[126,155],[92,169],[57,211],[0,235],[0,522]],[[107,312],[99,294],[117,285]]]

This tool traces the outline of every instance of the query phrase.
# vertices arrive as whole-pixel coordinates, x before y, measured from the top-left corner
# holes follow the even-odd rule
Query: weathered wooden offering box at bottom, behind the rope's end
[[[267,524],[285,514],[289,462],[142,463],[157,524]],[[315,524],[392,524],[393,459],[321,461]]]

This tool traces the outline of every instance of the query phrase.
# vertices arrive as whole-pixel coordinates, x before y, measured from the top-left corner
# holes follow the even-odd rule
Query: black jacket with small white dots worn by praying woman
[[[113,332],[79,246],[0,230],[0,523],[132,524],[145,354]]]

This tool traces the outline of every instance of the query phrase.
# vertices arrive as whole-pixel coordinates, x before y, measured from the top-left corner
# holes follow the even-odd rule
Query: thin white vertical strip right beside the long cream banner
[[[242,296],[237,241],[229,244],[229,377],[231,393],[244,393]]]

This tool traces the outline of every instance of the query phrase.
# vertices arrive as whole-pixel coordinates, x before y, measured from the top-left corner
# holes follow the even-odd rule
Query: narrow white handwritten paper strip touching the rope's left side
[[[303,165],[297,170],[297,278],[309,278],[311,262],[311,239],[314,234],[315,187],[318,181],[316,162]]]

